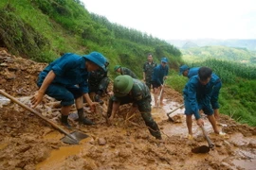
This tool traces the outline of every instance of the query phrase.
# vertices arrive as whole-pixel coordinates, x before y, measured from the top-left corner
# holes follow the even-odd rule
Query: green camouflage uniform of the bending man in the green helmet
[[[161,133],[157,124],[155,123],[151,115],[151,93],[149,88],[142,81],[133,78],[134,85],[131,90],[131,94],[127,94],[123,97],[112,96],[109,99],[107,115],[110,117],[112,112],[112,107],[114,102],[120,102],[120,105],[133,103],[137,106],[140,114],[148,127],[150,133],[155,136],[155,138],[161,138]]]

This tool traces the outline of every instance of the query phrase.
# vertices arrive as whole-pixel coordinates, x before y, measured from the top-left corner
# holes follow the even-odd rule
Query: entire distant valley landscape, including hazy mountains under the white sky
[[[224,59],[256,65],[256,40],[173,40],[188,62]]]

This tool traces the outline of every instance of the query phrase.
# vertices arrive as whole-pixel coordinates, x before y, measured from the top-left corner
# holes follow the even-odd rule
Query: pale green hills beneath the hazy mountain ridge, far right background
[[[186,61],[202,61],[205,59],[232,60],[241,63],[256,64],[256,53],[247,48],[227,46],[203,46],[182,49],[183,59]]]

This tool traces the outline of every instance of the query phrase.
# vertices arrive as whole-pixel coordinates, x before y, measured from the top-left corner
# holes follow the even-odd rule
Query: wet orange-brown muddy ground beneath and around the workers
[[[45,66],[1,49],[0,89],[29,106],[29,96],[37,90],[35,82]],[[186,138],[184,109],[172,114],[174,122],[166,115],[182,104],[182,96],[170,87],[166,94],[166,106],[152,112],[162,141],[150,135],[138,112],[125,121],[129,106],[121,107],[112,126],[106,124],[100,109],[92,113],[84,107],[96,125],[80,126],[70,118],[74,129],[67,131],[80,129],[89,136],[76,145],[62,143],[64,135],[58,130],[0,97],[0,169],[255,169],[255,127],[238,124],[222,114],[218,125],[228,135],[221,137],[213,134],[205,120],[215,147],[207,154],[194,154],[192,148],[207,145],[202,131],[193,123],[194,139]],[[107,103],[107,96],[104,100]],[[61,126],[60,108],[52,98],[46,96],[36,110]]]

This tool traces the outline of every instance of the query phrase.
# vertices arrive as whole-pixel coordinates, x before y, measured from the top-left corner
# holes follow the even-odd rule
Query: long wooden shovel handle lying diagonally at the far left
[[[76,139],[74,139],[70,134],[68,134],[68,132],[66,132],[62,127],[57,126],[56,124],[54,124],[53,122],[51,122],[50,120],[46,119],[46,117],[44,117],[39,111],[37,110],[33,110],[29,107],[27,107],[27,105],[21,103],[19,100],[17,100],[16,98],[14,98],[13,96],[9,95],[8,93],[5,93],[3,90],[0,90],[0,94],[8,97],[11,101],[13,101],[14,103],[20,105],[21,107],[23,107],[26,110],[31,111],[32,113],[34,113],[35,115],[37,115],[38,117],[40,117],[41,119],[45,120],[47,123],[49,123],[52,127],[55,127],[56,129],[60,130],[61,132],[63,132],[65,135],[67,135],[69,138],[77,141]]]

